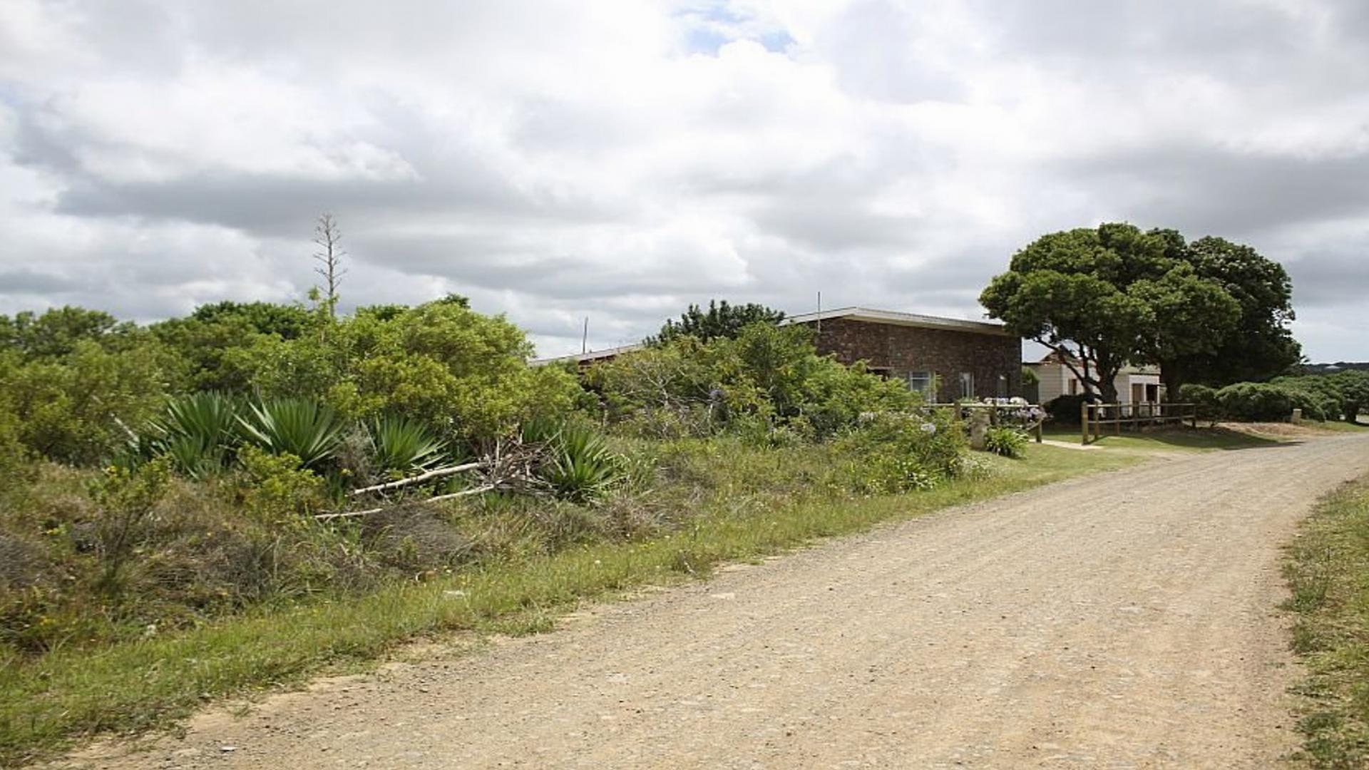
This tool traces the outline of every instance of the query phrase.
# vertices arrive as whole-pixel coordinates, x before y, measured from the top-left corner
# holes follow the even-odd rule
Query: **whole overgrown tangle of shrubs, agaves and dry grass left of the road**
[[[680,333],[583,382],[530,355],[459,299],[0,316],[0,656],[965,471],[954,410],[802,326]],[[474,478],[352,493],[472,456]]]

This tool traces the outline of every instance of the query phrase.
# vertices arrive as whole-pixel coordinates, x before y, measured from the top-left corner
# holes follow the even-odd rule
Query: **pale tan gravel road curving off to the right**
[[[1296,743],[1280,544],[1365,471],[1344,437],[1069,481],[96,765],[1268,767]]]

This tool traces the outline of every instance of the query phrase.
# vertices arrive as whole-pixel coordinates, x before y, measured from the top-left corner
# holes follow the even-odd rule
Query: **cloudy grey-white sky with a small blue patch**
[[[0,312],[457,292],[543,355],[690,301],[979,318],[1101,221],[1288,266],[1369,359],[1364,0],[4,0]]]

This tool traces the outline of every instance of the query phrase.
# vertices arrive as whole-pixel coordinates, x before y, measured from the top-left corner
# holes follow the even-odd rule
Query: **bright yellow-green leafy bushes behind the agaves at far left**
[[[81,308],[0,315],[0,451],[16,441],[93,464],[123,454],[131,433],[171,421],[156,436],[162,451],[200,474],[231,459],[231,447],[179,429],[166,410],[171,396],[208,392],[322,403],[346,419],[401,417],[441,441],[485,441],[533,417],[564,415],[582,397],[568,370],[530,367],[531,352],[522,330],[459,297],[338,319],[298,306],[219,303],[146,329]],[[209,404],[170,408],[178,406],[199,414]],[[238,417],[249,437],[268,440],[268,415]],[[300,449],[289,451],[316,462]]]

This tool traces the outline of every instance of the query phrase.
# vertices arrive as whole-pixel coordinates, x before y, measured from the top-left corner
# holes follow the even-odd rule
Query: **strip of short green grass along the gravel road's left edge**
[[[101,649],[11,660],[0,669],[0,765],[52,755],[97,732],[166,726],[207,700],[374,660],[424,634],[545,630],[579,600],[704,575],[720,562],[756,559],[879,522],[1123,467],[1136,458],[1031,447],[1023,460],[991,462],[995,473],[986,478],[927,492],[715,506],[668,536],[472,566],[356,599],[263,610]]]

